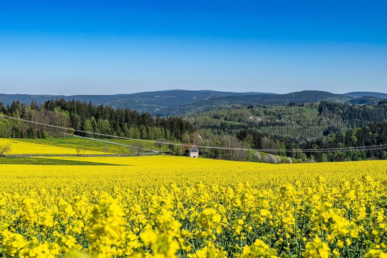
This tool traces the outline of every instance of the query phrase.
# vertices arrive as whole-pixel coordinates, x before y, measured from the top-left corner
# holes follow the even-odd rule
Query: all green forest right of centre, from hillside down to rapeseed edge
[[[236,136],[253,149],[303,161],[343,161],[386,158],[385,150],[347,152],[286,152],[386,144],[387,101],[375,105],[344,105],[332,101],[287,103],[276,107],[223,106],[185,117],[201,132],[203,141],[222,143]],[[207,143],[207,144],[210,144]],[[217,151],[207,151],[216,157]],[[245,153],[248,158],[248,153]]]

